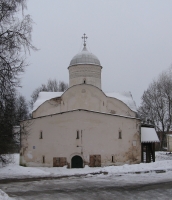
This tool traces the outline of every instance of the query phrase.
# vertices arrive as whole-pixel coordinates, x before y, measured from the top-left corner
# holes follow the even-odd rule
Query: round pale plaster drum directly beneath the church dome
[[[69,69],[69,87],[84,83],[94,85],[101,89],[101,66],[75,65]]]

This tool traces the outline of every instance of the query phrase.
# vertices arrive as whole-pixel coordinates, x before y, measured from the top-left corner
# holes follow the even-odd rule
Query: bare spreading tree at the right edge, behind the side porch
[[[172,72],[171,68],[160,74],[144,91],[138,113],[144,120],[147,118],[162,133],[161,148],[166,133],[172,128]]]

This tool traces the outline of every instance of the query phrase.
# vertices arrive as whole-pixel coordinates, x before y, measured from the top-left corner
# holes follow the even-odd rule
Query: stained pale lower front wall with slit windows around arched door
[[[52,167],[53,157],[66,157],[70,165],[74,155],[81,155],[84,163],[89,164],[92,154],[101,155],[102,166],[141,161],[140,121],[137,119],[73,111],[31,121],[29,136],[22,137],[22,165]],[[80,134],[82,131],[82,139],[76,139],[77,130]],[[118,139],[119,130],[122,139]],[[43,139],[39,139],[40,131]],[[133,141],[136,141],[136,146],[133,146]],[[42,156],[45,156],[44,164]]]

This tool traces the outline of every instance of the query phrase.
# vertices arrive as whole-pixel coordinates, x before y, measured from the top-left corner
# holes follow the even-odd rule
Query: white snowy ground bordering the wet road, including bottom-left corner
[[[90,168],[86,166],[83,169],[67,169],[66,167],[22,167],[19,166],[19,154],[13,155],[13,163],[6,167],[0,168],[0,179],[11,178],[33,178],[33,177],[60,177],[71,175],[87,175],[90,173],[105,173],[108,175],[125,175],[133,173],[152,173],[172,171],[172,154],[166,152],[156,152],[156,162],[154,163],[141,163],[135,165],[125,164],[123,166],[109,166]],[[155,173],[154,173],[155,176]],[[0,200],[12,200],[6,193],[0,190]]]

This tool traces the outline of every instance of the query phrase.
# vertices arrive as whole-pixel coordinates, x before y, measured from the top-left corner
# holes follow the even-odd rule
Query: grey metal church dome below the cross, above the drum
[[[75,55],[70,61],[70,66],[73,65],[82,65],[82,64],[90,64],[90,65],[100,65],[99,59],[92,53],[88,52],[86,46],[84,46],[83,50]]]

